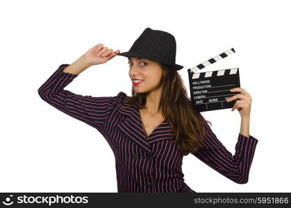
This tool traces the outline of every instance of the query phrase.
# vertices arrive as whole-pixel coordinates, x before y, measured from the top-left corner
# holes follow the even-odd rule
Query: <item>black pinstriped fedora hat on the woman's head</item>
[[[176,64],[175,37],[165,31],[146,28],[127,52],[119,53],[125,57],[145,58],[160,62],[178,71],[183,66]]]

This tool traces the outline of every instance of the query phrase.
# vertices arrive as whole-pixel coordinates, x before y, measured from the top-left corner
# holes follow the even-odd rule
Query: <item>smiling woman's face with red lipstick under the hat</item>
[[[144,58],[128,58],[129,77],[136,93],[146,93],[161,87],[163,69],[159,62]],[[134,79],[141,83],[135,83]]]

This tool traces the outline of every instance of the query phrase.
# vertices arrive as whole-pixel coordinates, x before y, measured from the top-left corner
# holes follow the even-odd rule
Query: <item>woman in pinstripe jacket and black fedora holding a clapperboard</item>
[[[64,89],[88,67],[116,55],[128,58],[131,97],[124,92],[82,96]],[[183,179],[183,155],[189,153],[233,182],[248,181],[258,143],[249,135],[251,96],[235,88],[241,94],[229,98],[240,98],[233,110],[242,118],[232,155],[192,107],[175,57],[174,36],[146,28],[128,52],[97,44],[72,64],[61,64],[38,89],[44,101],[101,132],[115,155],[119,193],[195,193]]]

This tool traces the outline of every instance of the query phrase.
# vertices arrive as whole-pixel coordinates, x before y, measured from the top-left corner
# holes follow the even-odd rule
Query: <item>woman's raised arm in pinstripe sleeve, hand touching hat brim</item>
[[[92,55],[93,52],[96,52],[93,50],[99,50],[97,51],[99,52],[97,55],[94,54],[97,58],[93,57],[93,55],[89,56],[89,58],[82,55],[81,58],[76,60],[73,64],[61,64],[49,79],[40,86],[38,94],[42,100],[46,101],[53,107],[56,107],[58,110],[74,117],[75,119],[83,121],[102,132],[102,125],[106,121],[106,116],[108,116],[113,105],[126,96],[126,94],[119,92],[117,96],[92,97],[74,94],[73,92],[64,89],[78,76],[79,73],[93,64],[93,58],[94,60],[99,61],[94,62],[94,64],[104,62],[105,58],[99,57],[108,52],[108,50],[103,50],[103,44],[97,46],[99,46],[99,49],[94,48],[96,47],[94,46],[85,53],[85,55]],[[107,54],[109,55],[106,56],[107,60],[115,56],[114,53]]]

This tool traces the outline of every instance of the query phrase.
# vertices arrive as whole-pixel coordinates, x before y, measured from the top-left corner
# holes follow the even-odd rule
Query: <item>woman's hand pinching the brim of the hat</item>
[[[113,49],[108,49],[107,47],[103,47],[103,44],[97,44],[96,46],[89,49],[83,57],[89,65],[97,65],[106,63],[108,60],[115,57],[119,50],[113,52]]]

